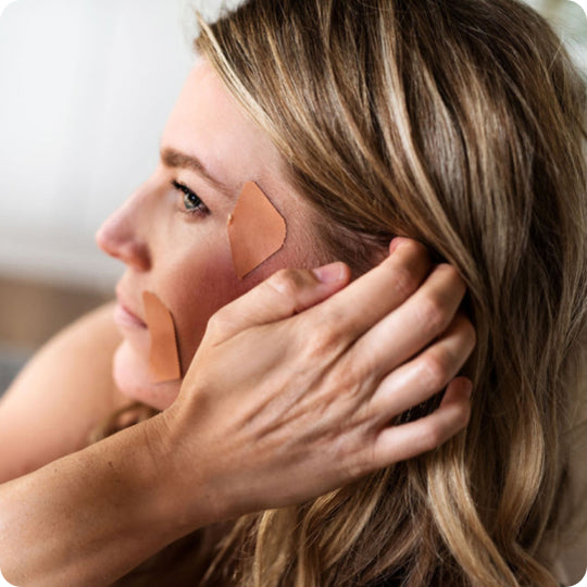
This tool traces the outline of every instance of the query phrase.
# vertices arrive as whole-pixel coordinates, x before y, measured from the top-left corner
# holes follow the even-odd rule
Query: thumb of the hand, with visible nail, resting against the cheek
[[[218,310],[208,323],[207,336],[220,344],[252,326],[299,314],[340,291],[350,277],[342,262],[314,270],[280,270]]]

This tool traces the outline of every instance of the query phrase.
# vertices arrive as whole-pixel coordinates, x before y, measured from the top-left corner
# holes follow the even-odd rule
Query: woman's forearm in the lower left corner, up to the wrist
[[[160,425],[145,422],[0,486],[0,569],[8,580],[108,585],[210,522],[202,515],[199,524],[192,511],[187,527],[175,510]],[[202,511],[210,516],[204,502]]]

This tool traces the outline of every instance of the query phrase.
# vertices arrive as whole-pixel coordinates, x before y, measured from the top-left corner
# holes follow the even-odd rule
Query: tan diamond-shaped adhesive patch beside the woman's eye
[[[284,217],[254,182],[242,188],[227,229],[239,279],[276,253],[286,239]]]

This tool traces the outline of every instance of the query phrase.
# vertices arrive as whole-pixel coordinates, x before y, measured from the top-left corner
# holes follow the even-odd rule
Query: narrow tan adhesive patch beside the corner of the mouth
[[[142,294],[147,327],[151,335],[149,371],[155,383],[182,378],[175,325],[165,304],[150,291]]]

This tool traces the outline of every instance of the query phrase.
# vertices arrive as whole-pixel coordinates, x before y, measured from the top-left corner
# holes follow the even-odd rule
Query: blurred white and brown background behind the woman
[[[221,3],[0,0],[0,394],[39,345],[112,297],[122,266],[93,234],[157,164],[193,59],[193,7],[212,17]],[[580,2],[529,3],[587,71]]]

